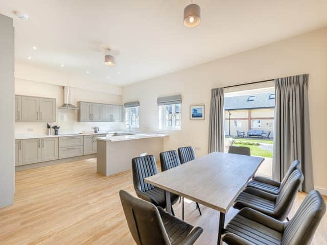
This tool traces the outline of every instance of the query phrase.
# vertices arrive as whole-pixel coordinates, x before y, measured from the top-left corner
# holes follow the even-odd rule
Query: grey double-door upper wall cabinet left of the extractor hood
[[[56,99],[15,95],[16,121],[56,121]]]

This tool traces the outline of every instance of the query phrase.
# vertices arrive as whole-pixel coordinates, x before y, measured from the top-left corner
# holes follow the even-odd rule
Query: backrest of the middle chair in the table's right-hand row
[[[303,174],[300,170],[295,169],[285,184],[279,189],[276,197],[274,213],[279,220],[285,220],[289,214],[295,197],[303,182]]]

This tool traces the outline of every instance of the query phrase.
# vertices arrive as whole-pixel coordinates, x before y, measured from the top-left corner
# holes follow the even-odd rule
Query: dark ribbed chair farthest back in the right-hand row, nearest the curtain
[[[274,181],[272,179],[268,179],[265,177],[260,177],[260,176],[255,176],[253,178],[253,180],[251,180],[247,186],[248,187],[253,187],[256,189],[260,189],[266,192],[269,192],[271,194],[278,194],[279,190],[281,190],[281,188],[283,187],[283,185],[285,185],[286,181],[288,180],[288,178],[290,177],[291,173],[295,170],[295,169],[300,169],[300,162],[298,160],[295,160],[291,166],[289,167],[289,169],[287,170],[286,175],[283,178],[282,182],[277,182]]]

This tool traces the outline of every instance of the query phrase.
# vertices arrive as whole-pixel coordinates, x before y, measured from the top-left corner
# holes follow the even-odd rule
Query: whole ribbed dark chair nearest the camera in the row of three
[[[132,159],[133,184],[137,197],[142,198],[155,206],[166,207],[165,191],[149,183],[144,179],[158,173],[157,164],[153,155],[135,157]],[[172,205],[178,201],[178,195],[171,194]],[[174,214],[174,210],[172,209]]]

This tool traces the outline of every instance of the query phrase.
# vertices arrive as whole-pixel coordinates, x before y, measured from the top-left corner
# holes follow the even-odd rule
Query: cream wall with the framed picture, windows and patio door
[[[314,183],[327,189],[327,152],[322,123],[327,121],[327,29],[275,42],[254,50],[218,59],[189,69],[142,81],[123,88],[124,101],[140,101],[140,129],[157,130],[156,99],[182,94],[180,131],[171,131],[165,150],[196,146],[197,155],[207,153],[211,89],[297,74],[310,74],[309,103]],[[270,84],[271,85],[271,84]],[[258,88],[258,84],[245,86]],[[238,87],[238,89],[245,89]],[[235,91],[235,90],[234,90]],[[189,120],[189,106],[205,105],[205,120]]]

